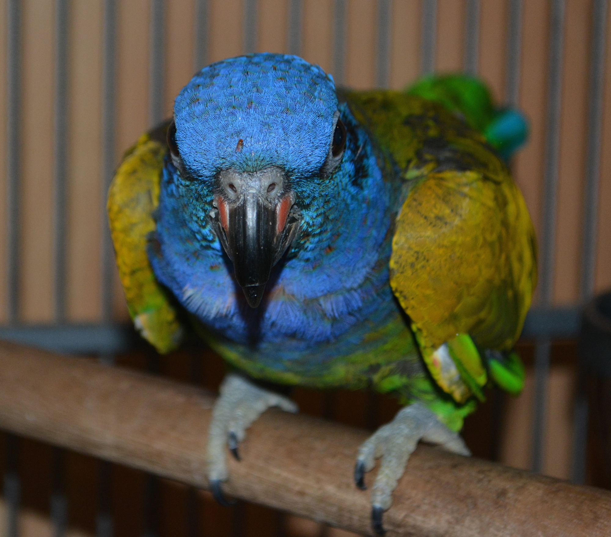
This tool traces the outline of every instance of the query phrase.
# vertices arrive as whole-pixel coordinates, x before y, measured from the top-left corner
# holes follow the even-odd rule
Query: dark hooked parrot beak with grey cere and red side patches
[[[246,301],[257,308],[271,268],[295,239],[301,211],[280,168],[224,170],[219,179],[210,219]]]

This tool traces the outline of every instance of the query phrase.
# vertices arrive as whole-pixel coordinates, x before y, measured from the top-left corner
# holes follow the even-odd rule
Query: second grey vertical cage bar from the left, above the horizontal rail
[[[55,322],[66,314],[66,226],[68,180],[68,1],[55,2],[54,124],[54,308]]]

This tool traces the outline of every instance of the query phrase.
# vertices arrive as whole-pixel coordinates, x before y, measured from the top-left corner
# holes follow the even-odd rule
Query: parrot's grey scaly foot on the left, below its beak
[[[214,403],[212,422],[208,429],[206,464],[208,481],[214,498],[221,505],[231,505],[221,488],[227,481],[225,447],[240,461],[238,445],[246,437],[246,430],[271,406],[296,413],[298,406],[284,395],[263,389],[238,373],[229,373],[221,384],[221,395]]]

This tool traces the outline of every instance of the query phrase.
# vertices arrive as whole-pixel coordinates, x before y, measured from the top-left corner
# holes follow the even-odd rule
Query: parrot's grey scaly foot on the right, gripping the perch
[[[459,434],[448,429],[422,403],[412,403],[398,411],[392,422],[382,425],[359,447],[354,467],[356,486],[365,489],[365,472],[373,469],[376,458],[382,458],[371,489],[371,526],[376,535],[386,533],[382,514],[392,505],[392,492],[420,440],[459,455],[471,454]]]

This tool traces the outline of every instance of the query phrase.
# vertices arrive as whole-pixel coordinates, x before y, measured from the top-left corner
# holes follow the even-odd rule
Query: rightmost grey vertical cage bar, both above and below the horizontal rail
[[[588,145],[585,162],[584,246],[581,274],[581,298],[584,302],[594,292],[606,41],[607,0],[594,0],[590,52]],[[585,383],[585,374],[582,371],[579,376],[577,397],[573,409],[573,467],[571,468],[571,481],[574,483],[584,483],[587,463],[588,399]]]

